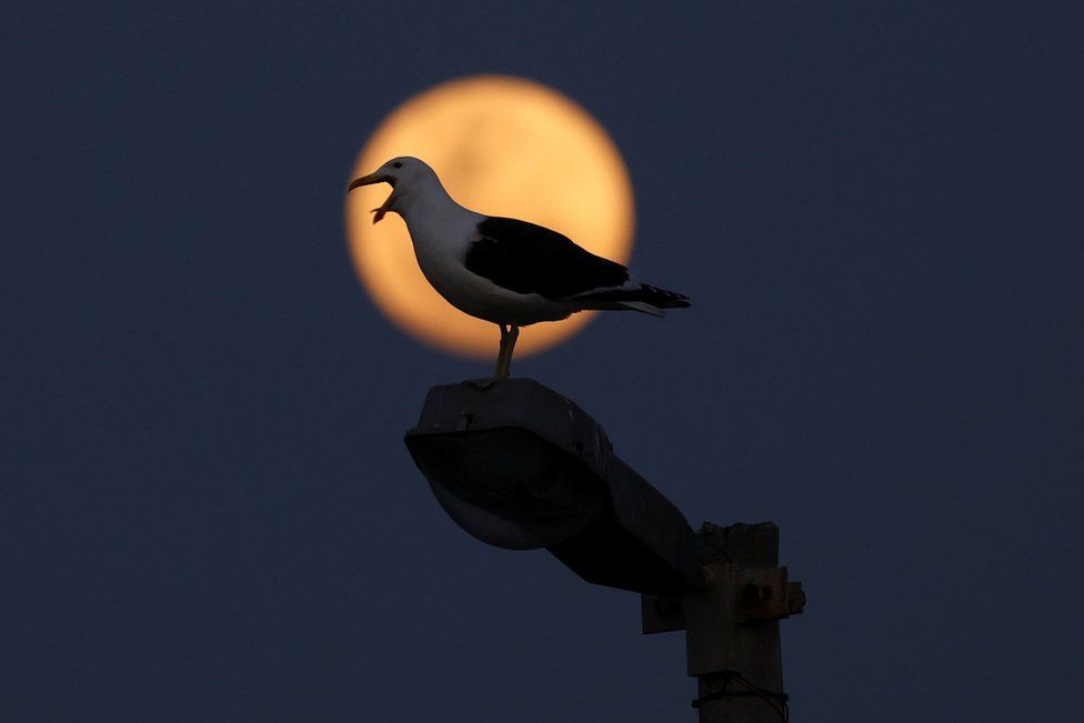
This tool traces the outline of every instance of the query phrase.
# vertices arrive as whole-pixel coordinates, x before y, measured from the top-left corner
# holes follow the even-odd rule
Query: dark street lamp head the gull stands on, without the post
[[[434,386],[405,442],[444,510],[485,542],[546,548],[584,580],[635,592],[696,582],[700,542],[678,508],[533,380]]]

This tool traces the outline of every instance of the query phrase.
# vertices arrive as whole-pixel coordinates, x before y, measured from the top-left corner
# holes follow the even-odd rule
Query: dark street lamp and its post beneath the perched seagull
[[[785,715],[777,621],[805,599],[776,568],[774,524],[693,532],[593,419],[530,379],[432,388],[405,442],[466,532],[641,593],[644,633],[686,630],[702,722]]]

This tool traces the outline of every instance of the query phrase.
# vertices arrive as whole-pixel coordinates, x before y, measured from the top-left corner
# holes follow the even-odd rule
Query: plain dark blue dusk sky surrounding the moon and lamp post
[[[694,720],[680,635],[402,445],[489,363],[379,314],[343,189],[502,72],[610,130],[694,300],[516,372],[694,524],[779,522],[794,719],[1077,720],[1081,23],[883,4],[6,3],[2,719]]]

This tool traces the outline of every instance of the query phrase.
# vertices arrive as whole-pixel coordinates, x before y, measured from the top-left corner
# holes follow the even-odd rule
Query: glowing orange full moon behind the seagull
[[[535,82],[475,76],[432,88],[393,110],[365,143],[357,178],[397,155],[429,163],[452,198],[489,215],[532,221],[592,253],[625,263],[634,227],[632,183],[605,130],[574,101]],[[449,352],[494,359],[500,331],[442,299],[418,268],[406,227],[370,209],[391,188],[347,197],[347,234],[358,275],[380,310],[413,337]],[[525,327],[515,358],[568,339],[593,314]]]

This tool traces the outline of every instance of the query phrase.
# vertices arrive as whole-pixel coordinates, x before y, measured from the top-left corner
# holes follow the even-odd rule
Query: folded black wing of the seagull
[[[499,287],[546,299],[620,287],[629,270],[584,251],[568,237],[534,223],[490,217],[466,252],[466,268]]]

